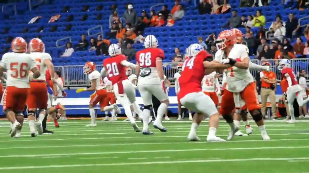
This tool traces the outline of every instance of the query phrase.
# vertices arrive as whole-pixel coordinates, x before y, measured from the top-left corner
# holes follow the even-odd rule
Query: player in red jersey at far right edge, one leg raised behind
[[[291,119],[287,121],[287,123],[295,123],[296,121],[293,108],[295,98],[298,102],[298,105],[303,106],[309,101],[309,96],[307,97],[307,99],[303,100],[303,96],[298,94],[299,91],[302,90],[302,87],[298,84],[294,71],[290,68],[290,60],[281,59],[278,64],[278,69],[282,72],[282,79],[286,79],[289,85],[286,91],[286,99],[290,109]]]

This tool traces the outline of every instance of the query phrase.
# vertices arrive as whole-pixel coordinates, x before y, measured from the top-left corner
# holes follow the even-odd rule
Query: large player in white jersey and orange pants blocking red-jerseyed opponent
[[[222,63],[227,64],[230,59],[237,61],[235,66],[226,70],[227,87],[221,102],[222,116],[231,126],[227,139],[232,139],[235,132],[239,130],[239,123],[233,121],[231,112],[235,107],[246,105],[260,129],[262,139],[269,140],[259,103],[257,103],[256,86],[249,71],[248,47],[236,44],[236,34],[231,30],[222,31],[218,36],[216,45],[218,49],[224,51],[223,53],[228,54],[228,58],[222,60]]]

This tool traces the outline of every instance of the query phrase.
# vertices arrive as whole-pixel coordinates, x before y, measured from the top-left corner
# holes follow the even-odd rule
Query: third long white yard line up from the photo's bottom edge
[[[184,136],[186,137],[186,136]],[[309,140],[309,139],[273,139],[273,140],[238,140],[238,141],[227,141],[228,143],[243,143],[243,142],[277,142],[277,141],[304,141],[304,140]],[[30,148],[37,148],[37,149],[43,149],[43,148],[65,148],[65,147],[100,147],[100,146],[129,146],[129,145],[175,145],[175,144],[203,144],[203,143],[215,143],[215,142],[163,142],[163,143],[109,143],[109,144],[89,144],[89,145],[51,145],[51,146],[33,146],[33,147],[0,147],[1,150],[8,150],[8,149],[30,149]]]

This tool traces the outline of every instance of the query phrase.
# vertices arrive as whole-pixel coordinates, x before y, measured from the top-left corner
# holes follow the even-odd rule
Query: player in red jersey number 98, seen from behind
[[[165,57],[162,49],[157,48],[158,40],[154,35],[147,35],[144,39],[144,50],[136,53],[137,65],[136,70],[138,74],[138,89],[144,103],[143,131],[148,131],[147,124],[150,117],[151,97],[154,95],[160,102],[158,108],[158,115],[153,123],[153,126],[160,131],[167,131],[162,125],[162,118],[169,105],[168,96],[164,86],[164,74],[162,67],[162,60]],[[146,122],[145,122],[146,121]]]

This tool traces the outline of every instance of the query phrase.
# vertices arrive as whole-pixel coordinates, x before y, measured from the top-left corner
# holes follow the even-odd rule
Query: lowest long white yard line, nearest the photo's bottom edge
[[[106,167],[106,166],[128,166],[128,165],[158,165],[158,164],[175,164],[175,163],[212,163],[212,162],[243,162],[243,161],[289,161],[303,160],[308,157],[299,158],[250,158],[250,159],[204,159],[204,160],[175,160],[159,162],[129,162],[129,163],[106,163],[106,164],[74,164],[74,165],[45,165],[45,166],[23,166],[23,167],[0,167],[0,170],[14,169],[42,169],[42,168],[65,168],[65,167]]]

